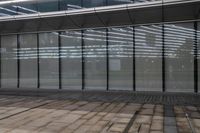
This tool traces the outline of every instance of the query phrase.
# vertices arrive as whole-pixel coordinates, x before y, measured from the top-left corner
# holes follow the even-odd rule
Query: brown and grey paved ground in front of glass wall
[[[0,133],[200,133],[197,100],[194,94],[0,95]]]

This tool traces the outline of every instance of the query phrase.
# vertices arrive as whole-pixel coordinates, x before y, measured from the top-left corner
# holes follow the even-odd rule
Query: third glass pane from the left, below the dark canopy
[[[40,88],[58,88],[58,33],[39,34]]]

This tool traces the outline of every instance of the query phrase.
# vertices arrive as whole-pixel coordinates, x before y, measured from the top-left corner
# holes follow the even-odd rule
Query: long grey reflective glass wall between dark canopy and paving
[[[1,87],[195,92],[200,26],[194,27],[190,22],[2,35]],[[199,91],[199,70],[197,77]]]

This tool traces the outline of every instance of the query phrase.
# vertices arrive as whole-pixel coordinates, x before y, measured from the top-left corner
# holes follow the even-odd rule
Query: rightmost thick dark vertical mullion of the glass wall
[[[194,22],[194,92],[198,92],[198,48],[197,48],[197,22]]]

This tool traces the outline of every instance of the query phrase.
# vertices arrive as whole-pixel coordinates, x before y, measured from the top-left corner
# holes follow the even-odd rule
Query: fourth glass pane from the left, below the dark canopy
[[[61,33],[62,89],[82,88],[81,32]]]

